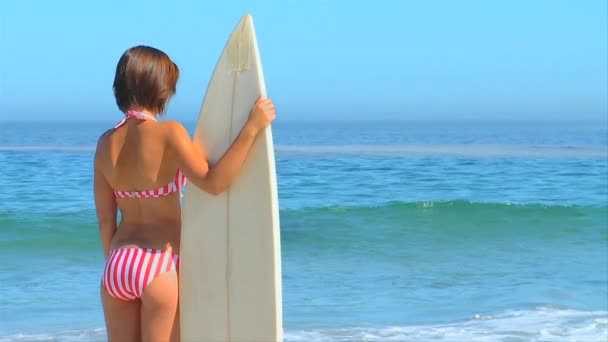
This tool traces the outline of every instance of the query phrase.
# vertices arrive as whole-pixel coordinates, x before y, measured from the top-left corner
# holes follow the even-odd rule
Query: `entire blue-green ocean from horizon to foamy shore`
[[[0,341],[105,340],[92,158],[115,119],[0,123]],[[273,134],[286,341],[608,339],[606,122]]]

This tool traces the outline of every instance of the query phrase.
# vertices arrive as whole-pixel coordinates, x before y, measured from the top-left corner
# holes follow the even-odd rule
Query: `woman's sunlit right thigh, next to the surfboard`
[[[178,275],[158,275],[141,296],[141,334],[144,342],[179,341]]]

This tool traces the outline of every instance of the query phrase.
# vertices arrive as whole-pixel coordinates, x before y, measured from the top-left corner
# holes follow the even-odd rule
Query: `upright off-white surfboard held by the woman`
[[[195,141],[214,163],[266,96],[253,20],[245,15],[209,82]],[[182,341],[283,339],[279,205],[270,127],[219,196],[186,187],[180,252]]]

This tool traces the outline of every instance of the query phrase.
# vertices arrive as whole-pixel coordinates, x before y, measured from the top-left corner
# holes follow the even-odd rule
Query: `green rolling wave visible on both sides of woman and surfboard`
[[[407,236],[483,239],[569,238],[608,241],[608,207],[468,201],[391,202],[377,206],[284,209],[282,239],[290,246],[390,246]],[[93,210],[0,212],[0,248],[84,250],[98,244]],[[443,241],[433,240],[435,243]],[[354,248],[354,247],[353,247]]]

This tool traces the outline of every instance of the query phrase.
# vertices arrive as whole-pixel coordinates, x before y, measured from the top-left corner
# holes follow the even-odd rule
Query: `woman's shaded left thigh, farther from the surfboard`
[[[101,285],[101,303],[106,319],[108,342],[141,341],[141,302],[138,299],[116,299]]]

